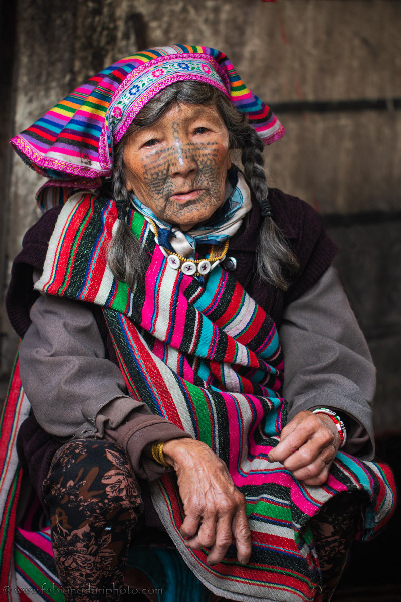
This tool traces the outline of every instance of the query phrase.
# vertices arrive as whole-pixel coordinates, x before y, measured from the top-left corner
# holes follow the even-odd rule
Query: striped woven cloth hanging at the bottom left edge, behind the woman
[[[0,419],[0,602],[64,602],[50,528],[32,488],[26,498],[23,488],[16,523],[22,485],[16,436],[30,410],[16,360]]]

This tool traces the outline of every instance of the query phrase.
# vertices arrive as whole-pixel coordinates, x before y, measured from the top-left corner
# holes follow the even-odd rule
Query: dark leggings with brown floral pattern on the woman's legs
[[[66,602],[120,600],[132,533],[143,512],[125,453],[104,439],[70,441],[55,453],[43,491]],[[323,602],[330,600],[340,579],[361,502],[357,496],[340,494],[311,523],[323,574]]]

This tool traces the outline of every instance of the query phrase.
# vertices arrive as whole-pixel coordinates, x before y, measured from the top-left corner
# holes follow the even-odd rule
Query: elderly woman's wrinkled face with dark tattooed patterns
[[[215,108],[175,105],[132,134],[124,149],[127,190],[165,222],[189,230],[225,200],[228,131]]]

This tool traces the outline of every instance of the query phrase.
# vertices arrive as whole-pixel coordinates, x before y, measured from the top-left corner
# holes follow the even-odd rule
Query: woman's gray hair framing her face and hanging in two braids
[[[113,196],[129,205],[124,172],[124,149],[130,135],[160,119],[173,105],[212,105],[216,108],[228,130],[230,148],[241,151],[241,161],[259,203],[268,196],[266,175],[263,170],[263,143],[246,116],[239,113],[228,98],[216,88],[196,81],[182,81],[170,85],[149,101],[135,117],[126,134],[114,150]],[[121,219],[107,251],[107,260],[114,276],[129,284],[133,290],[141,282],[148,264],[148,253],[132,234],[126,221]],[[299,264],[280,228],[272,217],[265,217],[260,229],[257,249],[257,273],[262,281],[286,291],[289,277]]]

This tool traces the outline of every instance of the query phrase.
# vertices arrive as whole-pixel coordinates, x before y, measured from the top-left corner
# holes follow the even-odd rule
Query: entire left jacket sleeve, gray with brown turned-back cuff
[[[30,317],[19,369],[40,426],[61,442],[104,437],[124,449],[137,476],[152,480],[163,474],[144,448],[191,435],[127,394],[119,368],[105,358],[90,308],[43,295]]]

